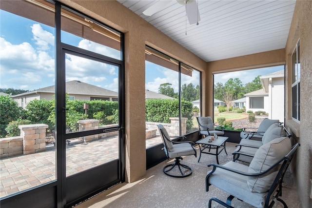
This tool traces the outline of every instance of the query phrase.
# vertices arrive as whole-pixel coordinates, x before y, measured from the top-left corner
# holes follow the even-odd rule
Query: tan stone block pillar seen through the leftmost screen
[[[20,136],[23,138],[23,154],[45,151],[45,132],[48,125],[19,125]]]

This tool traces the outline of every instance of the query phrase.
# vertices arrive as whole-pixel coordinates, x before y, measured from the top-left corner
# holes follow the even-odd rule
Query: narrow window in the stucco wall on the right
[[[292,53],[292,118],[300,121],[300,44]]]

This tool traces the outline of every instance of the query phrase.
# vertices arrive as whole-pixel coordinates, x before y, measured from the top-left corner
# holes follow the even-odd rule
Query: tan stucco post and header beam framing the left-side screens
[[[126,181],[145,174],[145,45],[204,71],[206,62],[165,36],[117,1],[61,0],[125,33]],[[204,74],[203,74],[204,77]],[[205,80],[202,80],[205,85]],[[203,90],[203,94],[205,91]]]

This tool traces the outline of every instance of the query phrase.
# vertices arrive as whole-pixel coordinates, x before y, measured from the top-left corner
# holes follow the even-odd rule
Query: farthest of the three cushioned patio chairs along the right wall
[[[273,124],[279,123],[279,120],[271,120],[268,118],[263,119],[258,128],[243,128],[240,133],[242,139],[253,139],[260,141],[264,132]],[[280,123],[281,124],[281,123]],[[249,129],[256,129],[256,131],[248,131]]]

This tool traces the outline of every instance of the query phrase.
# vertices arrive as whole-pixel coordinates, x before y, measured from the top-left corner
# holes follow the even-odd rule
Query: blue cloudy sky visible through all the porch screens
[[[14,26],[12,26],[14,25]],[[61,40],[67,44],[120,59],[119,51],[62,32]],[[0,11],[0,88],[36,90],[55,84],[54,28]],[[116,66],[66,54],[66,82],[79,80],[109,90],[118,91]],[[258,75],[282,70],[283,66],[245,70],[215,75],[215,83],[239,78],[243,84],[252,82]],[[145,88],[158,92],[161,83],[172,83],[178,92],[178,74],[146,61]],[[181,84],[199,84],[199,72],[181,76]]]

